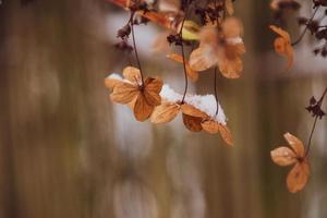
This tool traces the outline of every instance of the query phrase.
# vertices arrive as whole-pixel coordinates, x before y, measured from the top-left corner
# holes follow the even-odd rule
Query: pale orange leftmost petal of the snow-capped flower
[[[153,123],[167,123],[172,121],[180,112],[181,107],[173,102],[164,102],[162,105],[155,108],[152,114]]]

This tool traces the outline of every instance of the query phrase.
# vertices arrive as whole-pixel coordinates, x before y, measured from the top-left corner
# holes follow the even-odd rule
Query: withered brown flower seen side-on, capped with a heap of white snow
[[[232,135],[226,124],[225,113],[219,106],[219,113],[215,113],[216,104],[213,104],[213,95],[198,96],[186,95],[184,102],[181,101],[182,95],[175,93],[169,86],[164,85],[160,93],[162,104],[155,108],[152,114],[153,123],[167,123],[172,121],[179,112],[182,112],[185,128],[192,132],[202,130],[210,133],[220,133],[228,145],[232,145]]]

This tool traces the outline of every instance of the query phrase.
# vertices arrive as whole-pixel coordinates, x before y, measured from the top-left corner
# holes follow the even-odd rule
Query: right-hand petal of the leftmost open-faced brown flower
[[[152,106],[159,106],[161,104],[160,90],[162,88],[162,80],[160,78],[146,78],[144,87],[144,96],[147,102]]]

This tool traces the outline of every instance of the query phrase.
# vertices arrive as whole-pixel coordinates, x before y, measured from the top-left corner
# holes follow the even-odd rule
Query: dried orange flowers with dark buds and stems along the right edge
[[[314,55],[327,57],[327,25],[324,24],[324,19],[327,15],[327,1],[312,0],[312,5],[314,12],[311,17],[301,16],[298,19],[299,25],[304,26],[304,29],[301,33],[300,37],[293,43],[291,43],[289,33],[287,33],[284,29],[275,25],[269,26],[270,29],[278,35],[278,37],[274,41],[275,51],[287,59],[288,69],[293,65],[294,61],[293,46],[296,46],[299,43],[301,43],[307,31],[315,37],[316,40],[323,43],[323,46],[313,50]],[[284,13],[286,11],[298,10],[300,7],[301,4],[295,0],[272,0],[270,3],[270,8],[275,11],[275,13],[278,14],[276,16],[277,19],[280,19],[283,14],[288,14]],[[325,10],[324,15],[320,19],[316,19],[317,12],[322,9]],[[277,165],[294,165],[293,169],[290,171],[287,178],[287,186],[292,193],[301,191],[307,182],[307,178],[310,174],[307,155],[312,145],[312,137],[316,128],[316,122],[318,118],[322,119],[326,114],[325,111],[320,108],[326,93],[327,88],[318,100],[316,100],[315,97],[312,97],[310,99],[310,105],[305,108],[308,113],[311,113],[315,118],[306,147],[304,147],[303,143],[295,136],[291,135],[290,133],[286,133],[284,138],[288,141],[292,149],[288,147],[279,147],[271,152],[272,161]]]

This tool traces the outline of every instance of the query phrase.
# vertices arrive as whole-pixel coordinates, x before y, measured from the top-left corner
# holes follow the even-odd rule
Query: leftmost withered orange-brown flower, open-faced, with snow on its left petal
[[[140,70],[133,66],[126,66],[123,70],[123,76],[125,78],[123,81],[114,77],[105,80],[106,86],[112,88],[110,98],[118,104],[130,104],[136,120],[145,121],[150,117],[155,107],[161,104],[159,93],[162,81],[147,77],[143,84]]]

